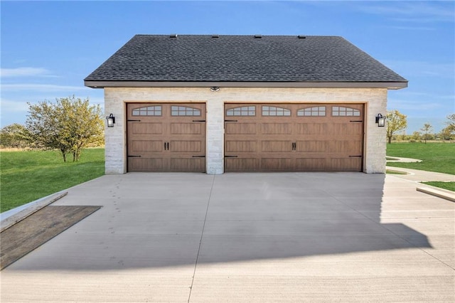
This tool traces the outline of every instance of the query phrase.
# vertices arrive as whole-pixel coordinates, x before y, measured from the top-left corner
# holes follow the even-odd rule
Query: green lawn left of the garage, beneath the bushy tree
[[[71,159],[71,157],[70,157]],[[105,174],[105,149],[85,149],[77,162],[58,151],[0,151],[1,212]]]

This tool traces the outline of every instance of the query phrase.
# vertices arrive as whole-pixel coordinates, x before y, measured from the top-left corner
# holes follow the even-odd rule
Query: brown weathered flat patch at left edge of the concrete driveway
[[[0,233],[0,270],[35,250],[102,206],[45,206]]]

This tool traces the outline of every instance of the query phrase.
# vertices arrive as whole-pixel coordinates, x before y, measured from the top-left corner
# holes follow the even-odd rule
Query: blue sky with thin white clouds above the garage
[[[1,127],[27,102],[89,97],[83,79],[137,33],[343,36],[410,81],[407,133],[455,113],[455,1],[1,1]]]

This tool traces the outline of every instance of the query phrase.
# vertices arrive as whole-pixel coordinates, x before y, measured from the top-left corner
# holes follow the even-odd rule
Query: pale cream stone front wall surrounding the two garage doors
[[[365,103],[365,140],[363,171],[385,173],[385,127],[375,124],[378,113],[386,114],[387,89],[384,88],[247,88],[220,87],[107,87],[105,114],[113,114],[115,125],[106,128],[106,174],[124,174],[126,164],[127,102],[205,102],[206,171],[223,174],[224,104],[225,103]]]

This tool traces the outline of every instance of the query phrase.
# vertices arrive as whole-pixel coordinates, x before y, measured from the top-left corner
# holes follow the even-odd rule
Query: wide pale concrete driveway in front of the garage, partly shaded
[[[1,272],[1,302],[454,302],[455,203],[396,176],[125,174]]]

